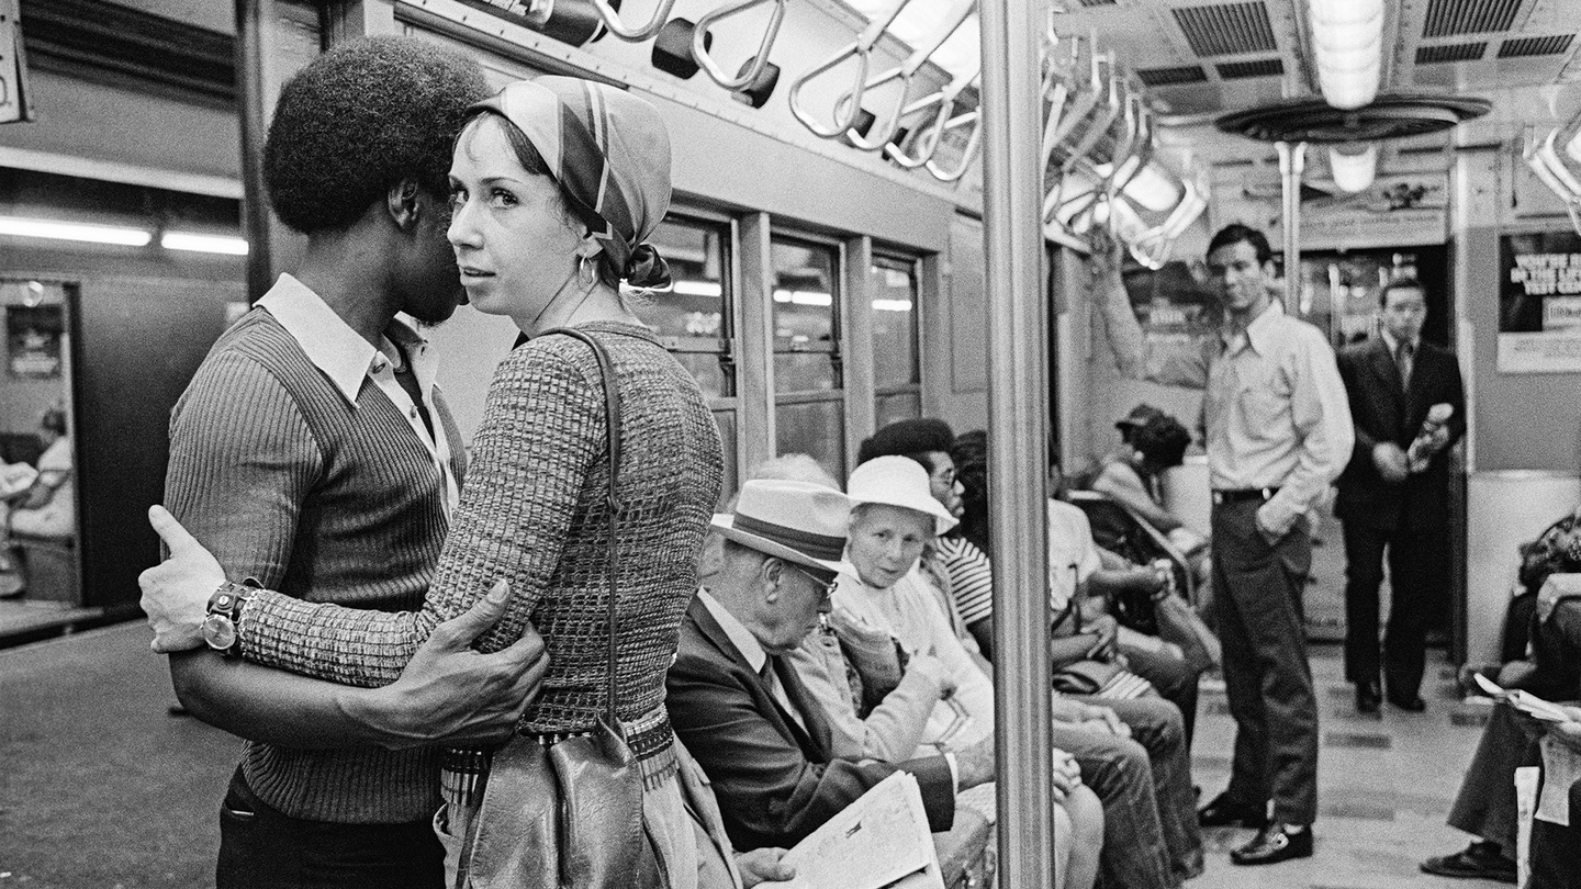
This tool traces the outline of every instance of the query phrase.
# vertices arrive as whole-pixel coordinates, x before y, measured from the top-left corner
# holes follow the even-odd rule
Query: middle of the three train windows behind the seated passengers
[[[811,454],[846,476],[840,365],[840,247],[770,236],[773,267],[775,448]]]

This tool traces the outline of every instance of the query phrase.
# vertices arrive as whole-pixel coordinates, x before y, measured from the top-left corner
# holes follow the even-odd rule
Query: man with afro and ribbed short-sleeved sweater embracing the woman
[[[174,517],[152,511],[172,562],[145,590],[201,543],[229,581],[357,607],[422,604],[465,457],[432,350],[395,313],[438,323],[462,299],[446,176],[468,106],[489,92],[470,59],[402,38],[343,43],[285,85],[264,179],[307,250],[175,405]],[[250,601],[229,581],[213,579],[207,615],[144,596],[182,702],[247,739],[220,810],[218,886],[440,889],[438,745],[506,734],[542,679],[542,641],[530,631],[471,652],[503,614],[489,596],[441,625],[394,685],[341,687],[228,656]],[[259,631],[247,644],[294,639]]]

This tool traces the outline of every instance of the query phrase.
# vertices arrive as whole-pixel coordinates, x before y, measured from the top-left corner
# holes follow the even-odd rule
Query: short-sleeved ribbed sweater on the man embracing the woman
[[[400,410],[372,383],[353,408],[261,308],[220,337],[172,411],[164,505],[231,579],[351,609],[417,607],[447,525],[444,481]],[[250,740],[242,770],[296,818],[398,823],[440,805],[436,750]]]

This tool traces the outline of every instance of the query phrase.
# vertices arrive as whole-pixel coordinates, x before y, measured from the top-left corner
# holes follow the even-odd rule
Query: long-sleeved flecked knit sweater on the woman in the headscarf
[[[609,350],[621,394],[617,694],[620,717],[634,720],[664,702],[719,497],[719,433],[697,383],[651,334],[615,323],[582,329]],[[504,579],[511,603],[477,647],[509,645],[531,622],[549,649],[549,674],[522,731],[585,729],[606,706],[607,489],[593,351],[561,335],[523,343],[495,372],[422,609],[384,614],[259,595],[240,615],[242,656],[335,682],[387,683],[436,623]]]

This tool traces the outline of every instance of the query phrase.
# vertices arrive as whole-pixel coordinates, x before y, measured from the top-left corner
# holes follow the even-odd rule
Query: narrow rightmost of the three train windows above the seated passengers
[[[919,261],[873,258],[873,402],[877,429],[922,416]]]

